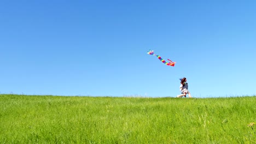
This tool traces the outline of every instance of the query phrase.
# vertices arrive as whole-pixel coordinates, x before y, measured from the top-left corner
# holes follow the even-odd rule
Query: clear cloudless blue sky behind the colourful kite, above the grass
[[[0,93],[255,95],[256,1],[0,1]],[[175,67],[147,54],[154,50]]]

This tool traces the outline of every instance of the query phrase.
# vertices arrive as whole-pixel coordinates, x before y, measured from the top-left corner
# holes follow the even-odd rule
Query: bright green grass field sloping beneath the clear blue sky
[[[0,95],[0,143],[256,143],[252,122],[255,96]]]

